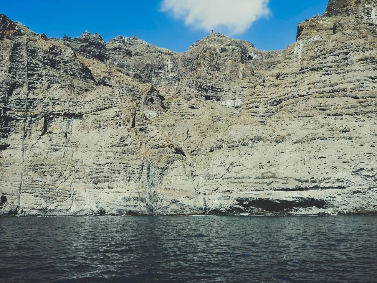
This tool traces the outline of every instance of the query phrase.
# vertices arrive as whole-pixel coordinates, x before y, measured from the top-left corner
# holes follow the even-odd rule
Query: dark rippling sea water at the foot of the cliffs
[[[377,282],[377,217],[0,218],[0,282]]]

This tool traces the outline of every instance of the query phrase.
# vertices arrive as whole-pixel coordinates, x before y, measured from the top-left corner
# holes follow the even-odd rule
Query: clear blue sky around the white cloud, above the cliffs
[[[164,1],[182,3],[179,1],[183,0]],[[285,49],[296,40],[297,24],[316,14],[321,15],[327,2],[270,0],[267,3],[270,10],[268,17],[259,18],[245,32],[232,34],[231,37],[252,42],[258,49]],[[13,0],[3,2],[0,13],[39,34],[44,32],[48,37],[77,37],[85,30],[98,32],[106,41],[117,35],[136,35],[153,45],[177,52],[186,51],[196,40],[208,35],[205,28],[185,25],[184,16],[176,18],[172,11],[162,12],[162,9],[162,0]],[[215,32],[223,31],[222,28],[215,29]]]

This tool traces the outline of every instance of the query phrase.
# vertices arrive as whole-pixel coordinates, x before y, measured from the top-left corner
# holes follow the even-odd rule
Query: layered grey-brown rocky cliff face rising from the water
[[[331,0],[276,52],[0,15],[0,214],[374,213],[376,31],[371,0]]]

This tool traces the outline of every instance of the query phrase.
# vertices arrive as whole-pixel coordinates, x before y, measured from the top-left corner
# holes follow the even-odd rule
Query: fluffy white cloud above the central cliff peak
[[[270,13],[270,0],[163,0],[162,12],[204,31],[242,34]]]

